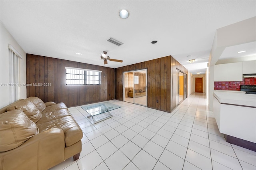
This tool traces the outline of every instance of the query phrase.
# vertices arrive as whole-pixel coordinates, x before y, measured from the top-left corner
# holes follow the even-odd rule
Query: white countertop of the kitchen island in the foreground
[[[213,95],[221,104],[240,105],[256,108],[256,95],[254,94],[214,91]]]

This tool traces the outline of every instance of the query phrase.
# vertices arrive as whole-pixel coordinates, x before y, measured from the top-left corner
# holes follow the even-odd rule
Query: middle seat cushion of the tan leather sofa
[[[65,117],[65,116],[70,116],[70,113],[68,112],[67,109],[60,109],[58,111],[53,111],[53,112],[48,112],[48,113],[42,112],[42,117],[36,123],[36,125],[39,125],[41,123],[46,123],[49,121],[53,121],[55,119],[59,119],[59,118]]]

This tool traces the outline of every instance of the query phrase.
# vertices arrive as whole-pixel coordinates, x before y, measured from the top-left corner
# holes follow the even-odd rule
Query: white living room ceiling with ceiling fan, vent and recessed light
[[[256,1],[1,0],[0,9],[26,53],[103,66],[107,51],[123,60],[104,65],[111,68],[172,55],[196,74],[205,73],[216,29],[256,16]],[[118,16],[121,9],[130,12],[127,19]]]

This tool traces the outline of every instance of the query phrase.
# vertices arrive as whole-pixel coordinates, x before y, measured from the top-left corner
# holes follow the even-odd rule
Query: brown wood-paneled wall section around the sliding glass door
[[[176,107],[176,68],[188,74],[188,70],[172,56],[117,68],[116,99],[123,101],[124,71],[147,69],[147,106],[166,112],[171,112]],[[188,83],[186,88],[188,88]],[[157,100],[158,103],[156,103]]]

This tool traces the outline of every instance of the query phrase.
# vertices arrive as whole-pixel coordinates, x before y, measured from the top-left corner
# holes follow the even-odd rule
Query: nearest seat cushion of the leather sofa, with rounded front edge
[[[75,144],[83,137],[83,131],[80,129],[76,121],[74,121],[72,116],[62,117],[60,119],[55,119],[46,123],[41,123],[37,125],[40,132],[43,132],[52,128],[60,128],[65,133],[65,144],[66,146],[71,146]]]

